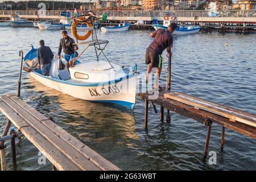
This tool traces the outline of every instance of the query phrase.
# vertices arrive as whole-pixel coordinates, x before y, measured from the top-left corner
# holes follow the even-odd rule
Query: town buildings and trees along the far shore
[[[41,1],[40,1],[41,2]],[[89,0],[89,2],[42,1],[47,10],[205,10],[215,3],[217,10],[256,10],[256,0]],[[38,1],[3,1],[0,10],[34,10]]]

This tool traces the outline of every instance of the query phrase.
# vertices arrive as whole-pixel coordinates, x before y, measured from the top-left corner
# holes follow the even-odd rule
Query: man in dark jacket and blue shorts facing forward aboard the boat
[[[62,39],[60,39],[60,45],[59,45],[59,51],[58,56],[59,59],[61,59],[60,53],[61,49],[63,49],[63,52],[65,53],[65,60],[67,61],[67,68],[69,72],[69,67],[73,64],[74,57],[78,56],[77,52],[75,50],[78,49],[76,45],[74,45],[75,40],[68,36],[68,32],[63,30],[62,31]],[[76,52],[76,55],[75,55]]]

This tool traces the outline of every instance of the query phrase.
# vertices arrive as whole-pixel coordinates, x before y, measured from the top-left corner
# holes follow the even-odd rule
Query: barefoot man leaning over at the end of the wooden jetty
[[[167,48],[167,52],[172,55],[172,32],[175,31],[177,27],[176,23],[171,23],[167,30],[160,28],[150,34],[152,38],[154,38],[153,42],[148,46],[146,50],[146,64],[148,64],[147,74],[146,74],[146,82],[148,79],[148,74],[151,72],[152,68],[156,68],[156,74],[158,74],[158,78],[160,77],[160,73],[162,71],[162,53],[164,49]]]

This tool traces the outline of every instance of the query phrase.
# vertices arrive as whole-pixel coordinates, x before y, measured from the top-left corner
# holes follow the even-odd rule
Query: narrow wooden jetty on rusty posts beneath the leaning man
[[[224,105],[216,104],[188,94],[159,90],[158,98],[152,100],[150,93],[140,93],[139,96],[145,100],[144,126],[148,125],[148,102],[160,105],[160,120],[164,119],[164,109],[167,109],[167,122],[170,122],[168,111],[173,111],[203,123],[208,127],[205,141],[204,156],[207,156],[212,123],[222,126],[221,149],[224,148],[225,128],[236,131],[256,139],[256,115],[245,113]],[[151,99],[151,100],[150,100]]]

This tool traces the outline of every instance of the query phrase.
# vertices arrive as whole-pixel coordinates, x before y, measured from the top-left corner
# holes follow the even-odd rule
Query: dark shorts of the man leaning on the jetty
[[[152,64],[153,68],[162,67],[162,56],[156,53],[154,50],[147,48],[146,50],[146,64]]]

